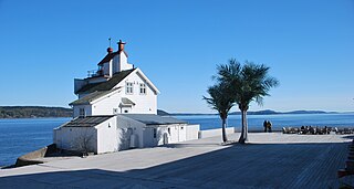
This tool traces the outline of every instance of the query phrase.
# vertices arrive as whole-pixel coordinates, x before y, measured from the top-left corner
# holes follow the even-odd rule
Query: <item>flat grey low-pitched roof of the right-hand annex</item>
[[[185,120],[179,120],[169,116],[159,116],[155,114],[121,114],[125,117],[142,122],[146,125],[170,125],[170,124],[187,124]]]

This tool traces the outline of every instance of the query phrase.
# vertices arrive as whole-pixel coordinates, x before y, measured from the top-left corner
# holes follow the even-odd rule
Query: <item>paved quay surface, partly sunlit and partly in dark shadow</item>
[[[229,135],[238,139],[239,134]],[[0,169],[0,188],[337,188],[351,135],[249,134]]]

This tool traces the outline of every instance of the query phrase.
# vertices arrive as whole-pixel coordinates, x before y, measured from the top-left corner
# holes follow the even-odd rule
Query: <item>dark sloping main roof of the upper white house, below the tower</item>
[[[135,69],[122,71],[118,73],[115,73],[112,78],[110,78],[106,82],[101,83],[91,83],[87,85],[84,85],[82,88],[80,88],[76,94],[80,93],[92,93],[92,92],[100,92],[100,91],[110,91],[115,85],[117,85],[122,80],[124,80],[127,75],[129,75]]]

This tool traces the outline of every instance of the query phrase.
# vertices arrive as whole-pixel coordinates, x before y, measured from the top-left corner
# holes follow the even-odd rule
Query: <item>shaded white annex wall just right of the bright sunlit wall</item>
[[[116,117],[118,150],[144,147],[143,128],[145,124],[122,115],[117,115]]]

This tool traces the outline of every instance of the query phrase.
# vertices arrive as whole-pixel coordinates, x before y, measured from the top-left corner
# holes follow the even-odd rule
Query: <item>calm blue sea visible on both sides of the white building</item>
[[[200,124],[200,129],[220,128],[221,125],[216,115],[176,118]],[[249,115],[250,130],[262,129],[264,119],[271,120],[274,129],[301,125],[354,127],[354,114]],[[52,144],[53,128],[69,120],[70,118],[0,119],[0,167],[12,165],[19,156]],[[229,116],[228,125],[240,129],[240,116]]]

